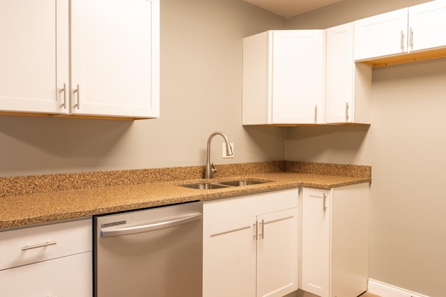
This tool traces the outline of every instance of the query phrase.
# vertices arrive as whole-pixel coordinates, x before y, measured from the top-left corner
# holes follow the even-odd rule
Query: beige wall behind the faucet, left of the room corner
[[[160,0],[161,116],[134,122],[0,116],[0,176],[283,160],[286,131],[243,128],[242,38],[286,20],[240,0]],[[130,74],[129,74],[130,75]]]

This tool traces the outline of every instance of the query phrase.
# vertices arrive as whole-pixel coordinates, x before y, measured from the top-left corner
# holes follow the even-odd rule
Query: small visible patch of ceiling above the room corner
[[[282,17],[293,17],[342,0],[244,0]]]

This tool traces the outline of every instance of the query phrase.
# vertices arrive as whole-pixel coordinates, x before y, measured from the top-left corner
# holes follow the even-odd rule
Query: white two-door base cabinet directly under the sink
[[[298,289],[298,189],[204,202],[203,296]]]

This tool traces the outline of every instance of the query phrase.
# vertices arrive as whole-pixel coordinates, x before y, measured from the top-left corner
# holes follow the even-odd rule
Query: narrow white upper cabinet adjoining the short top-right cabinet
[[[325,122],[371,122],[371,67],[353,58],[353,22],[325,30]]]

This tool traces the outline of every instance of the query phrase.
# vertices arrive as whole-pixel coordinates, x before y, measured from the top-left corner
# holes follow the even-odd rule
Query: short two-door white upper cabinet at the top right
[[[444,47],[446,0],[422,3],[355,21],[356,61]],[[412,60],[441,55],[444,56],[444,53],[416,56]]]

